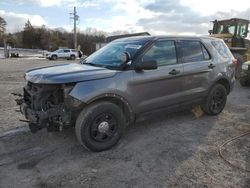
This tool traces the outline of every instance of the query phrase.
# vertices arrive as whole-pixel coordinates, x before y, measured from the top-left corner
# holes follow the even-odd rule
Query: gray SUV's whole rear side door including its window
[[[199,100],[206,95],[209,80],[213,78],[215,64],[205,45],[200,40],[180,40],[178,49],[183,63],[183,102]]]

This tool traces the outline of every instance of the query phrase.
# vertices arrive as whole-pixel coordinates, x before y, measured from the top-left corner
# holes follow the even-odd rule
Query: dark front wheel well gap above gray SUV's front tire
[[[111,102],[111,103],[117,105],[123,111],[127,123],[134,121],[134,118],[135,118],[134,113],[126,100],[124,100],[122,98],[121,99],[116,98],[116,97],[102,97],[102,98],[98,98],[96,100],[93,100],[90,104],[92,104],[94,102],[100,102],[100,101],[108,101],[108,102]]]

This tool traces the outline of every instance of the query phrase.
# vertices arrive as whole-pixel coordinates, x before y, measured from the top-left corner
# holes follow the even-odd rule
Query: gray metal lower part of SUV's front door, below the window
[[[180,71],[171,75],[173,69]],[[135,71],[129,84],[130,93],[135,93],[138,113],[178,104],[182,95],[183,67],[180,64],[160,66],[157,70]],[[171,86],[171,87],[170,87]]]

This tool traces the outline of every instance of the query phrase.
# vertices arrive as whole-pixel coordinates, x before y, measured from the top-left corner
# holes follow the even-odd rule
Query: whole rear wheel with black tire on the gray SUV
[[[208,115],[217,115],[222,112],[227,102],[227,90],[221,84],[216,84],[210,90],[202,110]]]

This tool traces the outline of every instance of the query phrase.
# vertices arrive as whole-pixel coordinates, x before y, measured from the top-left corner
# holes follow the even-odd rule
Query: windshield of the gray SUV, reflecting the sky
[[[122,54],[128,52],[133,59],[148,40],[114,41],[87,57],[82,63],[106,68],[116,68],[123,64]]]

